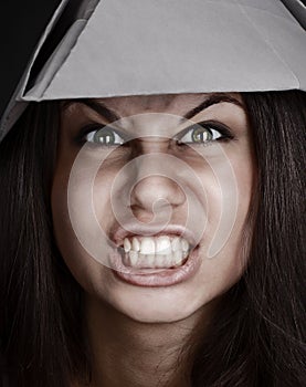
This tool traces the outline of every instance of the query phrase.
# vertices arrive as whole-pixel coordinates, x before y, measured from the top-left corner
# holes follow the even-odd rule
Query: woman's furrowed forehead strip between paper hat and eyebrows
[[[239,93],[220,93],[220,95],[234,97],[242,103]],[[127,116],[149,112],[167,112],[172,114],[186,113],[201,102],[209,98],[210,93],[197,94],[165,94],[165,95],[133,95],[122,97],[98,98],[96,102],[118,112],[120,116]],[[215,95],[215,93],[214,93]]]

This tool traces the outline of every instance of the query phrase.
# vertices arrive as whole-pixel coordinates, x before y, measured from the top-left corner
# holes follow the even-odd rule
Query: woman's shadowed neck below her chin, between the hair
[[[205,314],[207,314],[205,308]],[[91,387],[189,387],[188,343],[203,311],[171,323],[141,323],[88,297],[86,316],[93,354]]]

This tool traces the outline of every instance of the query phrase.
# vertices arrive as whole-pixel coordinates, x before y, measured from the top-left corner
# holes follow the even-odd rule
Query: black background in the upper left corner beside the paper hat
[[[0,0],[0,115],[24,71],[38,39],[60,2]],[[306,0],[302,2],[305,4]]]

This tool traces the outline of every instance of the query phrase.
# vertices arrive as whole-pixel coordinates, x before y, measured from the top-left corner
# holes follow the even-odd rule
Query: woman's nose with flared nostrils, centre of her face
[[[165,168],[162,155],[143,156],[137,164],[136,184],[130,195],[130,207],[136,216],[151,216],[154,211],[162,211],[165,207],[172,209],[186,202],[186,195],[176,178],[173,165]],[[172,164],[175,161],[172,160]]]

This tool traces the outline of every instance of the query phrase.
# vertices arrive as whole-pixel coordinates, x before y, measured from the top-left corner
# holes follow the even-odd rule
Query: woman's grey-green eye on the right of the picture
[[[225,128],[214,128],[209,124],[197,124],[184,130],[184,135],[178,139],[179,144],[208,144],[217,139],[229,139],[231,134]]]

